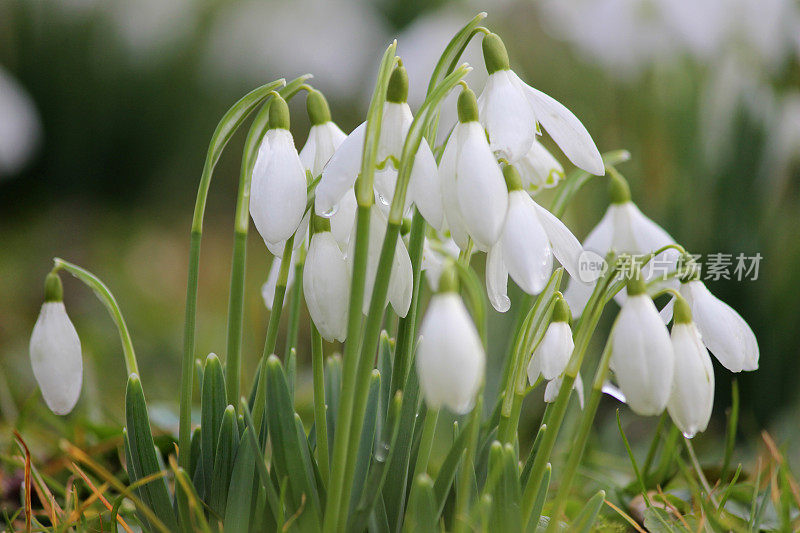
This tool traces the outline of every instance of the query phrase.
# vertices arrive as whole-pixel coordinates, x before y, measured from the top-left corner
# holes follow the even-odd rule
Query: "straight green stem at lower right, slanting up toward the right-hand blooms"
[[[611,339],[609,338],[606,342],[603,354],[600,357],[600,363],[597,365],[597,371],[595,372],[594,381],[592,382],[592,392],[589,396],[589,401],[583,409],[578,434],[573,441],[574,445],[570,450],[567,464],[564,467],[564,473],[559,479],[558,493],[556,494],[555,504],[553,505],[553,512],[550,515],[550,524],[552,524],[552,527],[548,526],[547,531],[555,531],[554,528],[556,524],[559,523],[558,521],[567,506],[569,491],[572,488],[572,482],[575,479],[578,466],[583,458],[583,452],[586,450],[586,443],[589,440],[589,433],[592,430],[592,423],[597,413],[597,407],[600,405],[600,398],[603,396],[603,383],[605,383],[608,377],[608,367],[610,363]]]

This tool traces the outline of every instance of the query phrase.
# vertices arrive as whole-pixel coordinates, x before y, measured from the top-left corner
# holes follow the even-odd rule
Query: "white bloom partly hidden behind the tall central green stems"
[[[378,272],[378,263],[380,262],[381,248],[383,247],[383,239],[386,236],[387,225],[386,217],[383,216],[383,213],[376,205],[373,205],[370,209],[370,218],[367,268],[366,272],[363,273],[363,275],[366,276],[364,284],[364,304],[362,307],[362,311],[365,315],[369,312],[369,305],[372,300],[372,289],[375,286],[375,276]],[[355,227],[353,231],[355,231]],[[351,273],[354,254],[355,239],[351,238],[350,248],[347,254],[347,264]],[[359,275],[361,275],[361,273],[359,273]],[[386,297],[388,303],[392,304],[392,309],[394,309],[394,312],[397,313],[398,316],[404,317],[408,313],[408,308],[411,306],[413,285],[414,277],[411,270],[411,258],[408,255],[405,244],[403,244],[403,239],[397,239],[392,270],[389,274],[389,289]]]

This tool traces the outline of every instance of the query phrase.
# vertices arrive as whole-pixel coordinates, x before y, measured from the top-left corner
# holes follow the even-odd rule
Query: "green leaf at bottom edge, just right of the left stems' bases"
[[[252,427],[245,429],[242,435],[239,453],[233,463],[231,483],[228,487],[228,503],[225,509],[225,532],[248,533],[250,531],[250,515],[256,496],[255,470],[258,457],[247,442],[255,439]]]

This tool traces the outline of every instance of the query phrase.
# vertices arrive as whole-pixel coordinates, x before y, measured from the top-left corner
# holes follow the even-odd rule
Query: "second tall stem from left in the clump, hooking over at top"
[[[295,78],[278,91],[289,99],[303,88],[311,75]],[[269,95],[269,93],[268,93]],[[225,357],[225,390],[228,404],[239,405],[242,372],[242,327],[244,319],[244,283],[247,263],[247,232],[250,227],[250,184],[258,148],[269,127],[269,108],[272,99],[261,106],[247,132],[242,165],[239,172],[239,189],[236,196],[236,212],[233,228],[233,259],[231,261],[231,288],[228,297],[227,352]]]

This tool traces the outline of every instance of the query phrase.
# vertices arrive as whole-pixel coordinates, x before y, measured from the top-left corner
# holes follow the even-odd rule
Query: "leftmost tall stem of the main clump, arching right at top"
[[[197,188],[197,199],[192,216],[192,230],[189,242],[189,272],[186,286],[186,315],[183,328],[183,356],[181,358],[181,401],[180,430],[178,437],[178,462],[183,469],[190,466],[188,450],[191,442],[192,415],[192,378],[194,370],[194,336],[197,320],[197,283],[200,271],[200,241],[203,236],[203,217],[206,210],[206,199],[211,186],[211,176],[219,161],[222,150],[241,125],[242,121],[267,97],[267,95],[286,83],[280,79],[255,89],[236,102],[222,117],[211,137],[206,154],[200,185]]]

